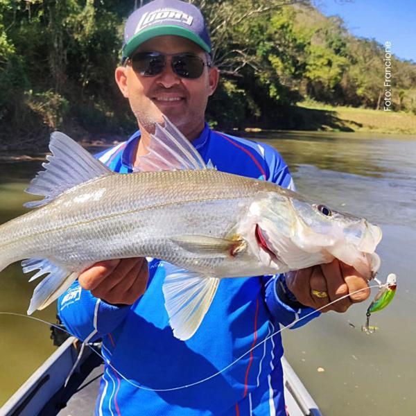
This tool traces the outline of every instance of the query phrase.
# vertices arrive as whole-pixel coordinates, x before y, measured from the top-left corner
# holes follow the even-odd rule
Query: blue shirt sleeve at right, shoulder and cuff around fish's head
[[[274,182],[280,187],[295,191],[295,184],[288,166],[277,150],[266,144],[260,145],[263,148],[263,155],[268,166],[269,182]],[[285,327],[302,327],[313,318],[320,315],[320,312],[313,308],[303,306],[297,302],[295,295],[288,290],[284,275],[273,275],[263,277],[265,300],[268,310],[277,322]]]

